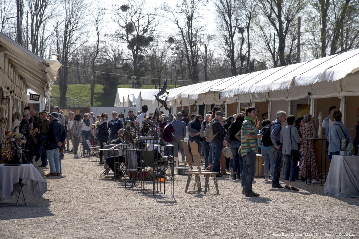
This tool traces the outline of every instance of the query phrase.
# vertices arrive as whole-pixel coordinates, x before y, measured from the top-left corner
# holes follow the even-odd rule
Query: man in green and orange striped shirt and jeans
[[[257,135],[256,117],[256,108],[246,108],[246,117],[244,117],[242,123],[241,133],[241,150],[243,157],[242,193],[246,195],[246,197],[257,197],[260,195],[252,191],[252,181],[257,164],[257,139],[262,139],[262,135]]]

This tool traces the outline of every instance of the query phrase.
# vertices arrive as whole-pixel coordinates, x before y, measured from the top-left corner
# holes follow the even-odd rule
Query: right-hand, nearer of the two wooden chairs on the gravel
[[[218,182],[216,175],[219,174],[218,172],[209,172],[209,170],[201,170],[201,155],[198,152],[198,144],[196,142],[190,141],[191,146],[191,152],[193,155],[193,166],[197,167],[197,170],[191,170],[185,172],[188,174],[187,179],[187,185],[186,185],[186,191],[188,190],[188,186],[190,185],[191,177],[192,175],[195,175],[195,185],[197,184],[198,191],[201,192],[201,181],[200,181],[200,175],[203,175],[205,177],[205,186],[204,186],[204,193],[207,194],[207,190],[209,190],[209,177],[213,177],[214,186],[216,187],[216,191],[219,194],[218,189]]]

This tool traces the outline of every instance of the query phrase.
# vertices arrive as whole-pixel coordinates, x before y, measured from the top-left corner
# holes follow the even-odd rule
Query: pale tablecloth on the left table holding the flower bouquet
[[[1,196],[5,200],[10,196],[11,192],[20,190],[19,179],[22,179],[22,184],[29,186],[30,193],[35,197],[41,197],[47,189],[45,179],[32,164],[19,166],[0,164],[0,190]]]

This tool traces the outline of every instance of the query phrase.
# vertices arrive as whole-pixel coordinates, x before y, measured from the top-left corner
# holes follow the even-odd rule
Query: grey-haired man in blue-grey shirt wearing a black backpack
[[[269,126],[270,137],[272,141],[271,150],[274,155],[272,187],[283,188],[283,186],[279,184],[280,168],[282,166],[282,144],[280,142],[280,130],[282,128],[282,123],[285,122],[287,116],[284,111],[278,111],[276,117],[277,119],[272,121]]]

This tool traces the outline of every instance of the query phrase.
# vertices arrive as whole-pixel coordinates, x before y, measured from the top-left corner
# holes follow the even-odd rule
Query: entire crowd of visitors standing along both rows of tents
[[[36,155],[36,161],[41,158],[42,164],[39,167],[50,165],[50,173],[46,176],[60,176],[64,152],[73,153],[74,158],[89,157],[91,145],[97,144],[99,148],[106,144],[116,145],[126,140],[124,125],[143,129],[144,121],[153,119],[152,114],[147,111],[146,105],[141,107],[137,116],[132,111],[126,117],[113,111],[112,119],[108,121],[107,113],[94,116],[90,112],[81,117],[80,114],[69,112],[64,116],[57,106],[51,114],[47,111],[30,111],[29,107],[25,107],[22,117],[19,112],[13,114],[13,130],[23,133],[27,138],[24,162],[32,163],[33,156]],[[241,180],[245,196],[259,196],[252,190],[257,154],[261,154],[264,159],[265,181],[271,179],[271,186],[274,188],[299,190],[295,184],[299,159],[293,156],[294,151],[301,151],[303,155],[302,178],[307,182],[310,179],[312,183],[320,182],[316,144],[311,140],[315,131],[311,114],[295,119],[293,115],[287,116],[286,112],[278,111],[274,121],[264,119],[259,122],[255,107],[248,107],[245,111],[225,118],[222,108],[215,106],[204,117],[192,114],[188,118],[185,112],[178,112],[175,120],[170,122],[169,116],[174,117],[163,112],[159,112],[158,116],[158,130],[163,131],[163,140],[174,146],[174,152],[171,147],[164,147],[164,155],[178,157],[180,151],[182,161],[187,165],[181,141],[188,136],[188,142],[199,145],[199,152],[204,156],[204,169],[217,172],[217,177],[229,175],[227,171],[230,171],[233,180]],[[346,142],[351,142],[349,129],[343,124],[341,117],[340,110],[332,106],[329,108],[329,116],[320,126],[323,128],[326,152],[330,159],[332,155],[339,155],[343,138]],[[287,124],[285,127],[284,122]],[[129,140],[133,141],[133,135],[131,137]],[[81,141],[83,150],[79,152]],[[188,148],[191,152],[189,143]],[[107,158],[103,158],[103,151],[99,152],[98,157],[99,164],[104,164]],[[284,186],[279,180],[283,157]],[[113,166],[111,158],[108,164]]]

